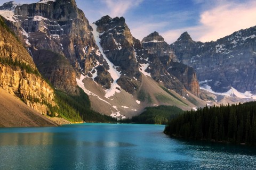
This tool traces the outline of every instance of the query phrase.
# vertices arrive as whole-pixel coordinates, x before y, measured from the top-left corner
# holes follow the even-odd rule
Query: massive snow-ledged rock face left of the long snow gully
[[[7,7],[9,10],[14,8],[12,19],[10,16],[6,18],[11,21],[9,27],[28,47],[36,64],[40,63],[40,61],[36,61],[37,59],[42,61],[42,56],[46,57],[46,55],[37,56],[42,54],[37,50],[44,50],[44,53],[45,50],[50,50],[68,58],[77,73],[87,74],[97,62],[103,63],[102,55],[97,55],[98,46],[95,45],[91,33],[92,28],[84,13],[77,8],[74,0],[42,1],[35,4],[18,5],[18,7],[17,5],[11,7],[11,4],[13,3],[6,3],[1,8],[5,10]],[[52,55],[52,57],[54,56],[57,55]],[[70,66],[67,66],[66,61],[58,62],[59,66],[63,64],[61,66],[63,72],[70,73]],[[41,71],[41,65],[37,66]],[[53,68],[52,73],[55,72],[54,69],[56,68]],[[73,70],[71,72],[72,75],[76,73]],[[55,88],[75,94],[77,91],[74,88],[76,87],[76,84],[74,86],[75,76],[65,80],[68,79],[72,80],[63,81],[62,79],[60,82],[57,82],[58,79],[50,80],[54,80],[52,83]]]

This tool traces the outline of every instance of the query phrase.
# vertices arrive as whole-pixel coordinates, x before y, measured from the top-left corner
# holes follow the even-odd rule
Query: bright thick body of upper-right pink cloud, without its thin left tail
[[[201,14],[200,23],[205,28],[201,41],[217,40],[240,29],[256,24],[256,2],[248,4],[226,4]]]

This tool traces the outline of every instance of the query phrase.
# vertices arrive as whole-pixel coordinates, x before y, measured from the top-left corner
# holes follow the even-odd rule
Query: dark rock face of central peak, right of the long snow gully
[[[141,74],[137,63],[133,36],[125,23],[125,19],[103,16],[94,22],[99,32],[100,46],[104,55],[120,72],[117,84],[125,91],[133,94],[140,86]]]

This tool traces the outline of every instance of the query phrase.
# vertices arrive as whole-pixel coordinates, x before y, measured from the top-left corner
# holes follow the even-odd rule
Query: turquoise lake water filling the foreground
[[[246,146],[167,137],[163,125],[0,129],[0,169],[256,169]]]

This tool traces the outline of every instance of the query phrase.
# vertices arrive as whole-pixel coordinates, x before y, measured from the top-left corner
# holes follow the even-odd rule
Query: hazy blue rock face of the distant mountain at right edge
[[[182,63],[195,69],[201,86],[210,86],[215,92],[233,87],[256,94],[255,42],[254,26],[207,43],[193,41],[184,32],[170,47]]]

